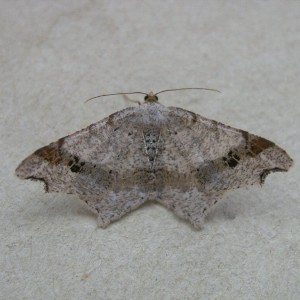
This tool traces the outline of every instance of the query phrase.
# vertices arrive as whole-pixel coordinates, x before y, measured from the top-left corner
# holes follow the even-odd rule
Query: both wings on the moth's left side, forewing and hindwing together
[[[106,227],[147,200],[128,176],[149,164],[142,129],[131,122],[135,110],[120,111],[35,151],[19,165],[17,176],[43,181],[47,192],[78,194]]]

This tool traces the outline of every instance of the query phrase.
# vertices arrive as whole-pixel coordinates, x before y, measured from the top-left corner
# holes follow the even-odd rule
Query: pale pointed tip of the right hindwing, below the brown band
[[[183,219],[189,220],[197,229],[203,227],[206,215],[214,204],[220,199],[219,195],[205,195],[202,193],[179,193],[170,197],[158,199],[158,202],[173,210],[175,214]]]

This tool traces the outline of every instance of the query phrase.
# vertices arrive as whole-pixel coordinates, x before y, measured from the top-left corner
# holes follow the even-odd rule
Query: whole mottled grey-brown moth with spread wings
[[[42,181],[46,192],[79,195],[103,228],[147,201],[201,228],[227,190],[262,185],[292,166],[273,142],[165,107],[159,93],[142,93],[142,105],[36,150],[16,175]]]

